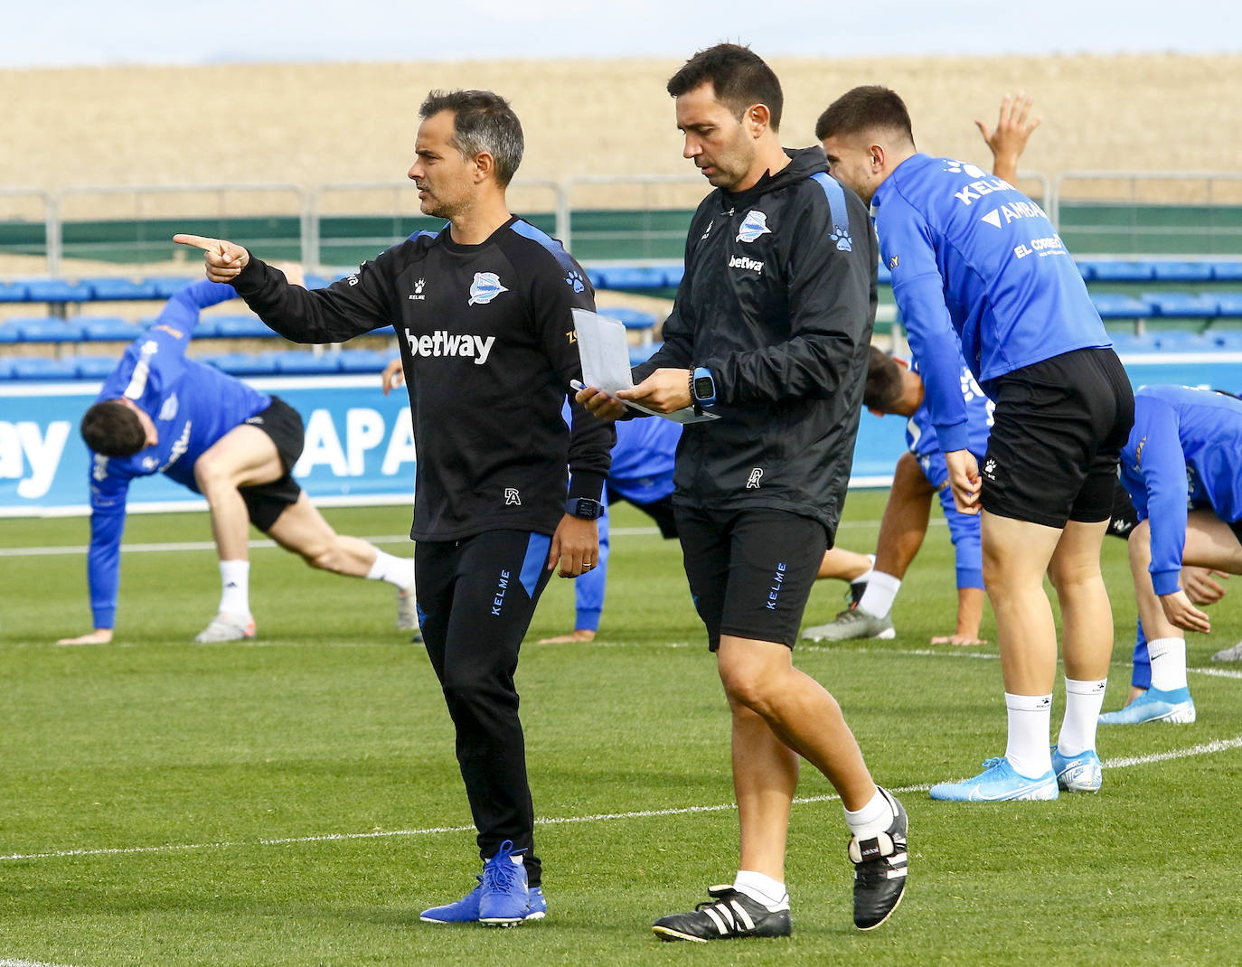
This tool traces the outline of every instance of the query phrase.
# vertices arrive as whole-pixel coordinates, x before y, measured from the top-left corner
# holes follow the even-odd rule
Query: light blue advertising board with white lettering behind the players
[[[1135,387],[1185,384],[1242,390],[1242,354],[1123,356]],[[384,396],[374,376],[248,380],[289,402],[306,421],[306,449],[293,469],[315,503],[411,504],[415,442],[404,391]],[[0,516],[89,513],[82,413],[99,384],[0,384]],[[852,487],[887,487],[905,449],[905,421],[862,415]],[[132,513],[205,508],[196,494],[163,475],[135,480]]]

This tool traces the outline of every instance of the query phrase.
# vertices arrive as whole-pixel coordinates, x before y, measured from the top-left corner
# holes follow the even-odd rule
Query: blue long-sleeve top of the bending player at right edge
[[[1139,520],[1151,521],[1151,587],[1171,595],[1187,508],[1211,508],[1231,524],[1242,518],[1242,400],[1189,386],[1140,389],[1122,451],[1122,484]]]

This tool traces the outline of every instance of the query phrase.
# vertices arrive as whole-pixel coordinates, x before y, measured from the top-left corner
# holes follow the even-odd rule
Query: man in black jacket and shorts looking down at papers
[[[699,910],[653,930],[689,941],[789,935],[785,840],[800,756],[841,793],[854,924],[869,930],[902,896],[905,812],[877,788],[836,700],[794,668],[791,649],[850,477],[876,236],[818,149],[781,148],[780,82],[750,50],[700,51],[668,92],[684,155],[717,190],[691,222],[663,348],[633,371],[632,389],[587,387],[579,401],[602,418],[632,415],[622,401],[719,417],[683,430],[673,505],[733,715],[741,863]]]

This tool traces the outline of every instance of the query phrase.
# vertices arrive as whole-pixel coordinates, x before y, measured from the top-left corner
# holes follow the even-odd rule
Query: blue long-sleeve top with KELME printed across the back
[[[1112,345],[1052,222],[1007,181],[915,154],[877,189],[872,215],[944,452],[968,449],[959,350],[986,391],[1006,372]]]

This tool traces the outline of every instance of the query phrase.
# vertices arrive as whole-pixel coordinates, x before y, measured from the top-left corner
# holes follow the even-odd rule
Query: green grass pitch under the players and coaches
[[[851,494],[842,546],[869,550],[883,492]],[[397,535],[407,508],[328,511]],[[619,508],[621,531],[650,521]],[[790,835],[794,936],[661,943],[658,916],[737,864],[729,722],[676,542],[614,539],[591,644],[553,578],[519,669],[549,916],[515,930],[421,924],[477,871],[452,729],[388,586],[256,549],[260,639],[194,645],[210,550],[127,552],[117,642],[88,629],[82,554],[0,556],[0,963],[76,965],[1236,965],[1242,888],[1242,677],[1210,655],[1242,637],[1236,588],[1189,653],[1199,721],[1100,732],[1099,796],[964,806],[928,785],[1000,755],[995,644],[953,627],[953,552],[935,514],[894,608],[893,642],[800,647],[877,780],[908,789],[910,879],[882,929],[851,922],[846,827],[804,770]],[[87,523],[2,520],[0,547],[83,545]],[[205,515],[135,516],[127,541],[209,541]],[[385,544],[396,552],[409,549]],[[1134,603],[1108,539],[1117,639],[1107,709],[1129,685]],[[1237,580],[1237,578],[1236,578]],[[821,622],[842,585],[821,583]],[[995,642],[990,614],[984,636]],[[1059,722],[1061,686],[1053,724]],[[709,808],[694,808],[709,807]]]

